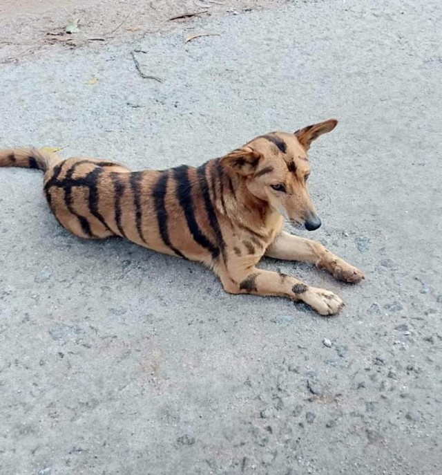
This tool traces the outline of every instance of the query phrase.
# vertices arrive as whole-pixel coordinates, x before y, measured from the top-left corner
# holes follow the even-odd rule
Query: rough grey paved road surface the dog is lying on
[[[338,292],[331,319],[227,295],[70,236],[39,172],[1,169],[2,475],[441,473],[441,7],[417,3],[296,2],[2,66],[2,146],[134,169],[339,118],[311,151],[314,236],[367,272],[263,264]],[[184,44],[200,32],[219,36]]]

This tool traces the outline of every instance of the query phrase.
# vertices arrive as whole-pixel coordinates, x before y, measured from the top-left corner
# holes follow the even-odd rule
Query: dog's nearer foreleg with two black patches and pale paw
[[[320,315],[339,313],[344,302],[333,292],[307,286],[295,277],[255,267],[229,274],[220,274],[224,289],[232,294],[272,295],[303,301]]]

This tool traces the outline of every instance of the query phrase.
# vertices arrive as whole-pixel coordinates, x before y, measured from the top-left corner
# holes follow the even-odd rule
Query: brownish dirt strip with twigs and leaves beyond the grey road
[[[191,24],[192,18],[276,8],[286,0],[2,0],[0,4],[0,62],[17,62],[44,48],[67,48],[141,40],[146,34]],[[171,20],[180,15],[196,17]],[[71,19],[79,32],[64,35]]]

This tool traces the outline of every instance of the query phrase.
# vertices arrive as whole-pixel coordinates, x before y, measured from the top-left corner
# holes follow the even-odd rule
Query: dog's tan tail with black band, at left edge
[[[46,171],[61,160],[61,157],[52,151],[39,149],[0,150],[0,167],[23,167]]]

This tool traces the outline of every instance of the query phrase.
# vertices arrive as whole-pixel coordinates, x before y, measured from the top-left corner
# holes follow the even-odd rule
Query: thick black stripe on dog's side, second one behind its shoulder
[[[212,254],[213,259],[216,259],[220,255],[219,248],[213,245],[213,243],[211,243],[211,241],[209,241],[209,239],[204,235],[195,219],[191,196],[192,185],[189,180],[189,175],[187,174],[188,170],[189,167],[187,165],[181,165],[180,167],[173,169],[173,175],[175,176],[175,180],[177,182],[177,199],[180,202],[180,205],[184,211],[184,216],[186,217],[186,222],[189,227],[189,231],[193,236],[193,239],[203,248],[209,250],[209,252]]]

